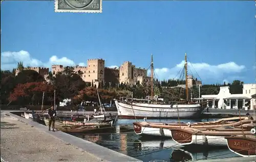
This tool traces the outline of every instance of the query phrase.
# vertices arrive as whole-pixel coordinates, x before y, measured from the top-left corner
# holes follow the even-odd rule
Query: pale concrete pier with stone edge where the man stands
[[[141,161],[17,115],[1,112],[1,160]]]

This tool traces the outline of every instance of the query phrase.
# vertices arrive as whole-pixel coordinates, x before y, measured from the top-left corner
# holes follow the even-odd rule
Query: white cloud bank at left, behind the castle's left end
[[[41,62],[37,59],[34,59],[31,57],[30,53],[25,50],[20,50],[18,52],[13,51],[5,51],[1,53],[1,69],[3,70],[11,70],[13,68],[17,67],[17,62],[23,62],[23,65],[25,67],[49,67],[51,68],[51,65],[64,65],[64,66],[74,66],[76,65],[74,61],[62,57],[58,58],[57,56],[52,56],[48,62]],[[79,63],[80,66],[85,66],[85,63]]]

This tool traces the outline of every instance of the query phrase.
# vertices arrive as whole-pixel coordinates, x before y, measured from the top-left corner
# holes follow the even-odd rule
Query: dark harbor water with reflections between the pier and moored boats
[[[217,119],[183,119],[180,122],[206,122]],[[143,121],[143,120],[138,120]],[[177,122],[173,120],[147,120],[148,122]],[[171,138],[144,138],[133,131],[131,119],[118,119],[116,130],[111,133],[101,134],[73,134],[76,137],[96,143],[114,151],[135,157],[142,161],[189,161],[200,159],[217,159],[227,157],[239,157],[227,147],[224,148],[200,148],[184,147],[176,144]],[[122,129],[125,125],[126,130]],[[127,128],[131,128],[127,130]]]

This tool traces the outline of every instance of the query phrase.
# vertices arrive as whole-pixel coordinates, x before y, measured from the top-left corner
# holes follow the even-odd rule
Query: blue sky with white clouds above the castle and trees
[[[102,13],[55,13],[54,1],[1,4],[1,69],[124,61],[158,79],[188,73],[203,84],[255,83],[254,1],[103,1]]]

